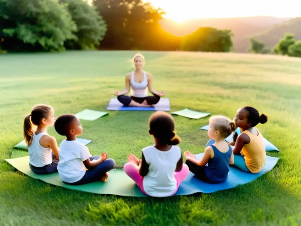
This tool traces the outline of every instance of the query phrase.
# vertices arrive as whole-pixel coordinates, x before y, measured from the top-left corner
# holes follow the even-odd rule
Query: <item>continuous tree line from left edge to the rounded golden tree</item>
[[[0,0],[0,50],[114,49],[230,52],[231,30],[200,27],[178,37],[165,13],[142,0]]]

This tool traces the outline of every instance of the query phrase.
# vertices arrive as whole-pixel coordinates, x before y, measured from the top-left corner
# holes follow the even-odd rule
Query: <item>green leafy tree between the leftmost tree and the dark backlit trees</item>
[[[67,49],[95,49],[100,45],[107,31],[107,25],[97,9],[85,0],[60,0],[68,8],[72,20],[77,25],[75,35],[77,40],[65,42]]]

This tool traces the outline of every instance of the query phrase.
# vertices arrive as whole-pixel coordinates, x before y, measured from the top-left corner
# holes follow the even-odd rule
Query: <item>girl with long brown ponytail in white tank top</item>
[[[24,118],[23,135],[28,146],[29,167],[36,174],[57,172],[59,148],[57,141],[47,133],[54,125],[54,109],[49,105],[33,106]]]

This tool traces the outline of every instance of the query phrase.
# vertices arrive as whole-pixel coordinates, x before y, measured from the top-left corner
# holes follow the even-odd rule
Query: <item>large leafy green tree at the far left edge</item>
[[[11,51],[63,51],[76,40],[67,8],[53,0],[0,0],[2,48]]]

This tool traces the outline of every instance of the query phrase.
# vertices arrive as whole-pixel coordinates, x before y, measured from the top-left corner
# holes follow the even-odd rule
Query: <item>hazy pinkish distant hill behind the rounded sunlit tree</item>
[[[219,29],[232,30],[234,37],[235,52],[246,52],[245,40],[248,36],[260,34],[268,27],[281,24],[290,18],[278,17],[236,17],[236,18],[209,18],[189,20],[182,24],[177,24],[172,20],[163,19],[160,21],[161,27],[176,36],[184,36],[196,31],[199,27],[216,27]],[[237,44],[238,43],[238,44]]]

